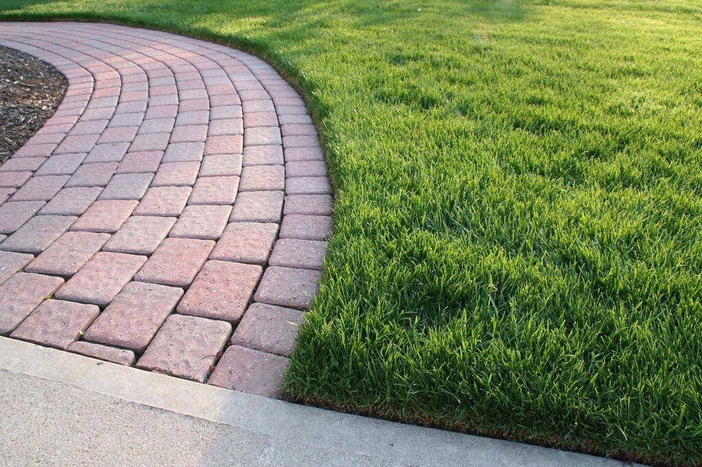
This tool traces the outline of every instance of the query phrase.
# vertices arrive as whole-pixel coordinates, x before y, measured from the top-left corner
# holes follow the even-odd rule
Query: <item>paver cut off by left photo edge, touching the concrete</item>
[[[63,279],[41,274],[16,273],[0,285],[0,334],[7,335],[46,297],[51,297]]]

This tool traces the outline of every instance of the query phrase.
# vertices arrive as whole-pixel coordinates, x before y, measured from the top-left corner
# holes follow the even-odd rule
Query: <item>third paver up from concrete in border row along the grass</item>
[[[256,302],[306,309],[319,292],[320,278],[322,272],[312,269],[269,266],[254,298]]]

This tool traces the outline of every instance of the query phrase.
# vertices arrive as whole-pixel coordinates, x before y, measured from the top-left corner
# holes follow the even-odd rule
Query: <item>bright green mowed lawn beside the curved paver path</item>
[[[296,400],[702,462],[702,2],[4,0],[253,50],[335,187]]]

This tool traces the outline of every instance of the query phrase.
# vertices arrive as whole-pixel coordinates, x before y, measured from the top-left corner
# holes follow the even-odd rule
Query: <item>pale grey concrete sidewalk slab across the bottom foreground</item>
[[[9,465],[617,466],[197,384],[0,337]]]

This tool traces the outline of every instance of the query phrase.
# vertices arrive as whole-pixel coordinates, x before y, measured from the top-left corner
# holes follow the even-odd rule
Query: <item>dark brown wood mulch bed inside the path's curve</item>
[[[48,63],[0,46],[0,163],[53,115],[67,86]]]

